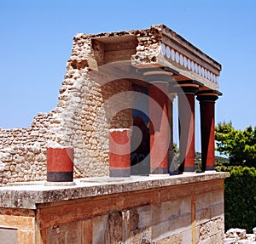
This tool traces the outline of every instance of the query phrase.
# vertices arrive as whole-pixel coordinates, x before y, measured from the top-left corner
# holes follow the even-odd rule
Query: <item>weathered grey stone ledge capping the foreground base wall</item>
[[[0,207],[36,209],[37,205],[42,203],[225,179],[229,175],[225,172],[211,172],[174,176],[132,176],[120,179],[84,178],[75,179],[76,184],[72,186],[46,186],[42,181],[12,184],[0,187]]]

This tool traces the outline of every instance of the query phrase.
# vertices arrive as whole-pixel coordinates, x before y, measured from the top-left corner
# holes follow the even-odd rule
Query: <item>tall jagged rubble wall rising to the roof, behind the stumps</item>
[[[131,91],[131,82],[111,81],[98,74],[95,77],[92,68],[97,69],[103,60],[99,54],[101,46],[94,51],[92,45],[90,37],[84,34],[74,37],[58,101],[60,144],[74,147],[79,177],[108,175],[108,129],[129,128],[132,122],[131,110],[119,109],[119,105],[131,104],[132,98],[125,94]],[[118,96],[111,99],[115,94]]]

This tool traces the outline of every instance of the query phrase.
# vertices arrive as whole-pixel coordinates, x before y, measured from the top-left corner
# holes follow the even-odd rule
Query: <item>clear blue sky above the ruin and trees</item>
[[[223,65],[216,123],[256,126],[256,1],[0,0],[0,127],[55,108],[76,33],[163,23]]]

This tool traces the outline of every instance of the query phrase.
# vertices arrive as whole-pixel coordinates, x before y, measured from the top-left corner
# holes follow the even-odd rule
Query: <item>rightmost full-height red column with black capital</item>
[[[201,167],[202,171],[214,170],[215,165],[215,101],[217,94],[198,94],[201,113]]]

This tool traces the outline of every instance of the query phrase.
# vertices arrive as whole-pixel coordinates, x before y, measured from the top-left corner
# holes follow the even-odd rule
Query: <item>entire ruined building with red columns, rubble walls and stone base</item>
[[[0,244],[223,243],[220,71],[164,25],[73,37],[55,109],[31,128],[0,128]]]

